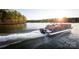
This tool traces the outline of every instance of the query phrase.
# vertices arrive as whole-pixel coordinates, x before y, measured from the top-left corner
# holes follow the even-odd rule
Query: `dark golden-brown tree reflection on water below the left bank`
[[[14,33],[26,29],[26,24],[6,24],[0,25],[0,33]]]

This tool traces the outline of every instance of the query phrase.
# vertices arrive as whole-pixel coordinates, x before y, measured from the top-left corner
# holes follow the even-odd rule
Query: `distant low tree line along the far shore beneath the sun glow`
[[[30,23],[46,23],[46,22],[50,22],[50,23],[60,23],[61,21],[58,21],[59,18],[51,18],[51,19],[42,19],[42,20],[27,20],[27,22]],[[75,18],[62,18],[62,23],[79,23],[79,18],[75,17]]]

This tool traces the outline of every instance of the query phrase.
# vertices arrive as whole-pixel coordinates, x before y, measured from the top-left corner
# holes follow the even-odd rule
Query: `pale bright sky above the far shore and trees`
[[[47,18],[79,17],[79,9],[17,9],[28,20]]]

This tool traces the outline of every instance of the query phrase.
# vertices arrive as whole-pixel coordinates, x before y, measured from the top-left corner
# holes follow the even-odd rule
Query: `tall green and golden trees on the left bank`
[[[14,9],[0,9],[0,24],[24,23],[26,17]]]

